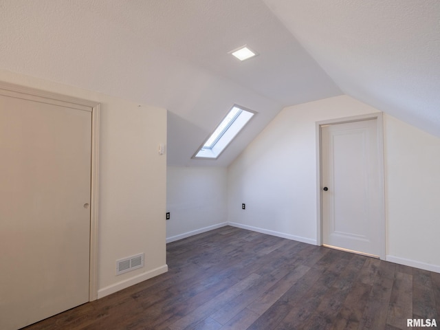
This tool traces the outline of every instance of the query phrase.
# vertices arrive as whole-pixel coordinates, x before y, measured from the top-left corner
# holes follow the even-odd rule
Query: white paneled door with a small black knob
[[[380,256],[377,119],[321,126],[322,243]]]

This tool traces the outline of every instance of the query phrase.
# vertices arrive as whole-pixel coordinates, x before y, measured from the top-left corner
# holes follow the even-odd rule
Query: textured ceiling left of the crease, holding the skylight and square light
[[[0,0],[0,31],[2,69],[168,109],[172,165],[227,166],[284,106],[342,94],[259,0]],[[190,159],[233,104],[258,115]]]

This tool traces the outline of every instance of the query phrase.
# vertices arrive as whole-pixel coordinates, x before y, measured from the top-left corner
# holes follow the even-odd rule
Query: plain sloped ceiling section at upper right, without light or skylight
[[[440,136],[440,1],[264,1],[344,94]]]

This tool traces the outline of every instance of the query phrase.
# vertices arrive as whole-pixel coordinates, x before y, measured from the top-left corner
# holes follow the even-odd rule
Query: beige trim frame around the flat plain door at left
[[[99,171],[99,122],[100,103],[72,96],[52,93],[4,83],[0,81],[0,95],[16,96],[27,100],[50,99],[51,103],[63,102],[72,104],[75,109],[91,112],[91,181],[90,181],[90,238],[89,238],[89,301],[98,299],[98,171]]]

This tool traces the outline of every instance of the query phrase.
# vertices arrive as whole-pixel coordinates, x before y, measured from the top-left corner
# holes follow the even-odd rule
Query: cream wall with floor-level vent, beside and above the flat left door
[[[0,70],[0,80],[100,102],[98,297],[166,272],[166,109]],[[145,253],[115,276],[115,261]]]

